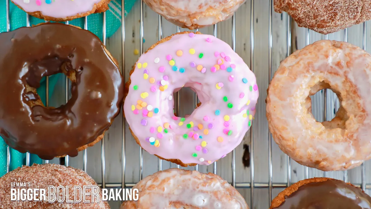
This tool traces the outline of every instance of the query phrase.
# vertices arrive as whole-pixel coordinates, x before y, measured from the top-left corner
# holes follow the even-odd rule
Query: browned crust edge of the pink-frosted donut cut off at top
[[[18,6],[13,1],[12,1],[12,3],[15,4],[19,9],[22,9],[24,12],[26,12],[27,14],[29,14],[29,15],[31,15],[33,17],[37,17],[39,19],[44,19],[46,21],[65,22],[65,21],[71,21],[71,20],[74,20],[74,19],[78,19],[80,17],[85,17],[85,16],[91,15],[93,13],[105,12],[105,11],[108,10],[108,3],[109,3],[109,1],[111,1],[111,0],[102,0],[98,4],[94,4],[93,9],[91,11],[85,12],[85,13],[81,13],[81,14],[76,14],[75,16],[68,16],[66,18],[55,18],[55,17],[45,16],[40,11],[26,12],[26,11],[24,11],[24,9],[22,7]]]

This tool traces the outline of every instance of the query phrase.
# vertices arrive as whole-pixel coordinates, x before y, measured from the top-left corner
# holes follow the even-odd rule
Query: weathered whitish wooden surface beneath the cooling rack
[[[253,122],[254,132],[254,181],[255,183],[268,183],[269,181],[269,159],[268,159],[268,129],[265,116],[265,98],[266,89],[269,83],[269,1],[255,1],[254,5],[254,56],[253,66],[250,62],[250,7],[249,0],[244,3],[236,12],[236,52],[243,58],[246,64],[253,69],[257,77],[257,85],[259,86],[260,96],[257,106],[257,113]],[[144,23],[144,51],[152,44],[158,41],[158,15],[154,13],[145,4],[143,6],[143,23]],[[367,24],[369,25],[369,24]],[[368,26],[368,34],[371,26]],[[139,50],[140,37],[140,6],[137,2],[133,10],[125,18],[125,80],[128,80],[128,73],[132,65],[138,59],[139,55],[134,54],[134,50]],[[362,47],[362,25],[353,26],[348,29],[348,42]],[[306,29],[298,28],[296,23],[292,23],[290,27],[291,51],[303,48],[306,45]],[[182,29],[183,31],[183,29]],[[200,29],[201,33],[213,34],[213,26]],[[169,36],[177,32],[177,27],[162,19],[162,36]],[[272,75],[288,54],[287,44],[288,34],[288,16],[286,13],[278,14],[273,12],[272,16]],[[309,43],[325,39],[325,35],[310,31]],[[232,19],[226,20],[217,24],[217,37],[232,44]],[[336,32],[328,36],[329,39],[344,41],[344,31]],[[371,39],[367,35],[367,48],[371,47]],[[107,48],[111,54],[121,63],[121,31],[116,32],[114,36],[107,40]],[[139,50],[140,51],[140,50]],[[60,80],[58,84],[61,87],[60,94],[55,95],[50,99],[50,105],[59,106],[65,103],[65,80]],[[313,115],[318,121],[323,120],[324,96],[323,92],[317,93],[312,100]],[[182,89],[180,93],[180,115],[190,114],[194,106],[194,93],[189,89]],[[188,102],[187,102],[188,101]],[[328,120],[334,117],[334,109],[338,108],[336,96],[328,91],[327,94],[327,118]],[[121,183],[122,177],[122,115],[119,115],[104,138],[105,150],[105,183]],[[128,125],[125,125],[125,183],[136,183],[139,181],[139,146],[135,143]],[[244,168],[242,164],[243,144],[250,144],[250,131],[246,134],[244,142],[236,148],[236,182],[250,182],[250,168]],[[87,173],[90,174],[98,183],[102,182],[102,158],[101,158],[101,143],[94,147],[88,148]],[[50,161],[50,163],[59,163],[58,159]],[[69,158],[69,164],[76,168],[83,168],[82,152],[75,158]],[[369,183],[370,179],[370,162],[365,163],[365,181]],[[305,168],[295,161],[290,161],[290,181],[296,181],[305,178]],[[167,161],[162,161],[162,169],[176,167],[175,164]],[[223,179],[232,182],[232,153],[217,162],[217,174]],[[185,169],[195,169],[189,167]],[[158,170],[158,158],[143,151],[143,177],[148,176]],[[213,172],[213,166],[198,166],[201,172]],[[272,139],[272,173],[273,183],[283,183],[288,181],[288,163],[287,156],[280,151],[279,147]],[[324,172],[309,168],[308,177],[322,177]],[[343,180],[344,173],[327,172],[327,177]],[[361,167],[354,168],[348,171],[348,180],[352,183],[361,184]],[[282,189],[273,189],[272,197],[274,198]],[[246,202],[250,206],[250,189],[239,189],[239,192],[246,198]],[[369,192],[369,191],[367,191]],[[269,208],[269,190],[267,188],[254,189],[254,207],[256,209]],[[111,203],[112,208],[118,208],[119,203]]]

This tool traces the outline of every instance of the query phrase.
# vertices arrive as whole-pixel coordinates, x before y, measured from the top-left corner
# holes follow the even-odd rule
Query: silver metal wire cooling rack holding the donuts
[[[6,1],[6,16],[7,16],[7,29],[6,31],[10,31],[12,28],[11,28],[11,25],[10,25],[10,20],[9,20],[9,0],[5,0]],[[272,79],[272,14],[274,13],[274,10],[273,10],[273,2],[272,0],[269,0],[269,5],[270,5],[270,12],[269,12],[269,54],[268,54],[268,59],[269,59],[269,77],[267,78],[269,81]],[[252,70],[254,72],[254,69],[253,69],[253,63],[254,63],[254,0],[251,0],[251,4],[250,4],[250,70]],[[248,15],[248,14],[246,14]],[[125,13],[124,13],[124,0],[122,0],[122,11],[121,11],[121,17],[122,17],[122,26],[121,26],[121,53],[122,53],[122,57],[121,57],[121,72],[122,72],[122,75],[125,75]],[[140,33],[139,33],[139,39],[140,39],[140,54],[143,53],[144,49],[143,49],[143,37],[144,37],[144,28],[143,28],[143,1],[140,0]],[[29,22],[29,15],[27,15],[27,26],[30,26],[30,22]],[[235,43],[236,43],[236,19],[235,19],[235,15],[233,15],[232,17],[232,49],[235,50]],[[104,13],[103,15],[103,43],[106,44],[106,14]],[[68,22],[66,22],[66,24],[69,24]],[[214,36],[217,36],[217,25],[214,25],[213,26],[213,35]],[[162,37],[162,17],[160,15],[158,15],[158,40],[161,40],[163,37]],[[291,54],[291,18],[288,18],[288,21],[287,21],[287,55],[290,55]],[[84,22],[84,29],[88,29],[88,19],[87,17],[85,17],[85,22]],[[197,30],[195,30],[197,31]],[[309,42],[309,29],[306,29],[306,45],[308,45],[310,42]],[[180,28],[177,27],[177,31],[176,32],[180,32]],[[174,31],[175,33],[175,31]],[[363,49],[366,50],[366,36],[367,36],[367,24],[366,22],[363,23],[363,34],[362,34],[362,39],[363,39]],[[328,35],[325,36],[325,39],[328,39]],[[344,30],[344,41],[348,41],[348,29],[345,29]],[[48,95],[49,95],[49,88],[48,88],[48,84],[49,84],[49,78],[47,77],[46,78],[46,85],[47,85],[47,88],[46,88],[46,106],[49,105],[49,98],[48,98]],[[69,99],[69,79],[66,78],[66,103]],[[197,95],[196,95],[197,96]],[[326,99],[327,97],[327,93],[326,93],[326,90],[325,90],[325,93],[324,93],[324,119],[326,120],[326,102],[328,101]],[[175,111],[177,113],[179,113],[179,95],[178,93],[175,94],[175,98],[177,100],[177,106],[175,107]],[[197,105],[197,97],[196,97],[196,100],[195,100],[195,107]],[[116,118],[116,120],[119,120],[119,117]],[[126,162],[126,156],[125,156],[125,119],[122,119],[122,124],[123,124],[123,127],[122,127],[122,180],[121,180],[121,183],[112,183],[112,182],[106,182],[105,181],[105,150],[104,150],[104,146],[105,146],[105,140],[104,138],[101,140],[101,160],[102,160],[102,169],[101,169],[101,172],[102,172],[102,179],[101,179],[101,184],[98,184],[99,186],[101,186],[102,188],[124,188],[124,187],[132,187],[134,186],[136,183],[128,183],[125,181],[125,162]],[[269,160],[269,181],[268,182],[262,182],[262,183],[257,183],[254,181],[254,149],[253,149],[253,144],[254,144],[254,126],[252,125],[251,126],[251,130],[250,131],[250,182],[240,182],[240,183],[236,183],[236,150],[234,149],[233,152],[232,152],[232,186],[236,187],[236,188],[243,188],[243,189],[250,189],[250,202],[248,202],[248,205],[251,209],[255,208],[255,205],[254,205],[254,189],[256,188],[267,188],[269,190],[269,199],[267,199],[267,201],[271,201],[273,196],[272,196],[272,190],[273,188],[286,188],[288,186],[290,186],[291,184],[291,160],[290,158],[286,155],[286,160],[287,160],[287,181],[286,183],[276,183],[276,182],[273,182],[273,171],[272,171],[272,135],[270,134],[269,130],[267,130],[267,132],[269,132],[269,135],[268,135],[268,138],[266,140],[268,140],[268,160]],[[95,145],[95,146],[99,146],[98,144]],[[10,149],[9,147],[7,148],[7,172],[9,172],[9,168],[10,168]],[[83,150],[83,170],[86,171],[86,168],[87,168],[87,150]],[[62,160],[63,161],[63,160]],[[158,159],[158,171],[162,170],[162,160]],[[45,163],[49,163],[48,160],[45,161]],[[63,164],[63,163],[62,163]],[[69,165],[69,157],[66,156],[65,159],[64,159],[64,164],[66,166]],[[30,165],[30,154],[27,152],[26,154],[26,165]],[[177,167],[179,168],[179,165],[177,165]],[[143,178],[143,172],[142,172],[142,169],[143,169],[143,153],[142,153],[142,148],[140,148],[139,150],[139,180],[141,180]],[[198,166],[196,165],[195,170],[198,170]],[[217,172],[217,162],[214,162],[213,163],[213,173],[216,174]],[[348,171],[344,171],[344,178],[343,180],[344,181],[348,181]],[[326,172],[324,172],[324,176],[326,176]],[[305,179],[308,179],[308,167],[305,167]],[[96,179],[95,179],[96,180]],[[362,190],[365,190],[365,189],[371,189],[371,184],[366,184],[366,181],[365,181],[365,165],[362,164],[361,165],[361,184],[355,184],[356,186],[358,187],[361,187]]]

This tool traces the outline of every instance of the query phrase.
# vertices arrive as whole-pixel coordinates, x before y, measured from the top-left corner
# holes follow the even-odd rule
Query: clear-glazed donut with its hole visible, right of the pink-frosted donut
[[[371,55],[346,42],[317,41],[281,62],[267,90],[269,129],[283,152],[323,171],[347,170],[371,158]],[[340,108],[317,122],[309,96],[334,91]]]

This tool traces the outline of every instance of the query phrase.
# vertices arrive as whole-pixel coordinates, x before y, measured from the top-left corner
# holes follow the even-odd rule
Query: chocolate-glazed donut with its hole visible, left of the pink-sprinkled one
[[[75,157],[102,139],[122,107],[124,80],[97,36],[43,23],[0,33],[0,42],[0,89],[6,98],[0,100],[0,136],[7,145],[51,160]],[[71,98],[45,107],[36,89],[43,76],[57,73],[71,80]]]

